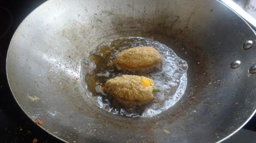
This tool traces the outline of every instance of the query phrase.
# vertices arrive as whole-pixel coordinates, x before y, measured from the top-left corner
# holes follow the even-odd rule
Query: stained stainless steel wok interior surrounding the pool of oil
[[[100,43],[154,37],[188,62],[188,85],[170,109],[127,118],[98,108],[81,85],[81,62]],[[56,0],[13,35],[7,76],[24,113],[66,142],[218,142],[256,108],[255,33],[218,1]],[[230,64],[240,60],[240,67]],[[86,70],[86,69],[85,69]]]

